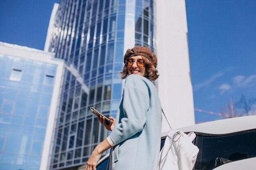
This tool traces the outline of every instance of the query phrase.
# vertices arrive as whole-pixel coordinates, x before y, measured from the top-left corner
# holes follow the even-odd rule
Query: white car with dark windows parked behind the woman
[[[256,170],[256,115],[210,121],[184,128],[195,132],[199,153],[194,170]],[[161,148],[167,133],[162,133]],[[129,160],[127,160],[129,161]],[[108,155],[97,170],[106,170]]]

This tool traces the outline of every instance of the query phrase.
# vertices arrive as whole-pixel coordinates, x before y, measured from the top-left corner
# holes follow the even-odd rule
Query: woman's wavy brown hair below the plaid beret
[[[141,56],[141,57],[145,61],[145,67],[146,67],[145,77],[151,81],[155,81],[159,77],[159,74],[157,74],[158,73],[157,69],[152,64],[152,62],[150,62],[146,57],[144,56]],[[119,73],[120,73],[121,79],[125,79],[129,75],[126,64],[124,64],[122,71],[120,71]]]

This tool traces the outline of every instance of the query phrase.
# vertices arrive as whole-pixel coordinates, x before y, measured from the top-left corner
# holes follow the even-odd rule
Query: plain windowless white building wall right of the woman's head
[[[157,86],[172,128],[195,124],[185,0],[156,0]],[[163,117],[162,132],[169,126]]]

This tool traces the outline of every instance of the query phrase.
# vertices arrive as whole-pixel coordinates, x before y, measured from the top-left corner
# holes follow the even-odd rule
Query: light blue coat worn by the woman
[[[129,75],[110,134],[117,144],[110,155],[110,170],[156,170],[161,127],[161,103],[155,85],[140,75]]]

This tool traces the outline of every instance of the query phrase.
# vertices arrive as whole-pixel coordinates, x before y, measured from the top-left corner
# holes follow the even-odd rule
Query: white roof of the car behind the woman
[[[256,129],[256,115],[234,117],[217,121],[209,121],[202,124],[195,124],[183,128],[177,128],[182,132],[201,132],[208,134],[229,134],[234,132]],[[162,137],[168,132],[163,132]]]

